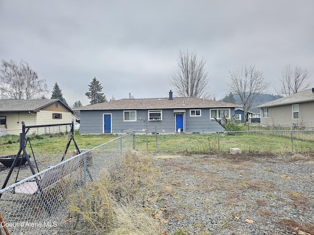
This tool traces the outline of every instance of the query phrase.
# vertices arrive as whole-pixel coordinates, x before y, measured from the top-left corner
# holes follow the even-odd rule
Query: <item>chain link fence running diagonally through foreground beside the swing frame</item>
[[[132,134],[120,136],[1,189],[0,234],[65,234],[72,226],[69,205],[132,147]]]

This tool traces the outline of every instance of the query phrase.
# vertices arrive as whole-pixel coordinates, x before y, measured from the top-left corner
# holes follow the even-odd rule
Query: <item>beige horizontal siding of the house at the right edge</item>
[[[279,125],[285,123],[300,123],[314,120],[314,102],[299,103],[299,119],[292,118],[292,104],[268,107],[268,118],[263,118],[261,124]],[[262,108],[261,108],[262,112]]]

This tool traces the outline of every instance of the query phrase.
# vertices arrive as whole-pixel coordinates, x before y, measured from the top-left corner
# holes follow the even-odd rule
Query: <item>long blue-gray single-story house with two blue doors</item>
[[[227,118],[240,105],[202,98],[119,99],[80,107],[80,134],[216,132],[214,117]]]

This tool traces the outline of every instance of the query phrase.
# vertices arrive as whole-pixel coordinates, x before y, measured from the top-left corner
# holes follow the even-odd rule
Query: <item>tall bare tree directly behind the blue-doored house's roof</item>
[[[209,98],[209,74],[204,57],[180,50],[177,62],[178,67],[169,79],[175,93],[180,97]]]

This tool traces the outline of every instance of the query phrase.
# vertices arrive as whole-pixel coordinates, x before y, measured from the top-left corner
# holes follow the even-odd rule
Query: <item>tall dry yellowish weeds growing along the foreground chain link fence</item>
[[[163,223],[152,216],[156,209],[144,203],[148,201],[147,193],[153,194],[148,188],[157,184],[160,175],[160,170],[152,167],[152,159],[138,152],[129,152],[122,155],[111,169],[104,169],[98,181],[89,183],[70,200],[73,232],[90,235],[162,234]]]

